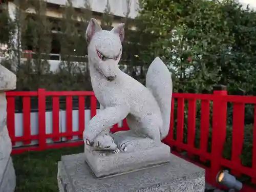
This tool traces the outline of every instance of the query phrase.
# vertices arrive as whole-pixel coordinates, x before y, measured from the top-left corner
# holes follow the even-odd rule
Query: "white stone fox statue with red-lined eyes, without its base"
[[[124,24],[105,31],[95,19],[91,19],[86,38],[92,87],[102,109],[84,130],[84,142],[100,146],[99,150],[111,148],[118,151],[119,148],[126,151],[125,143],[119,143],[119,147],[100,144],[101,140],[112,139],[111,136],[103,138],[102,133],[108,134],[114,124],[126,117],[130,127],[127,132],[160,143],[168,134],[172,101],[172,78],[167,67],[156,57],[148,68],[144,87],[118,68]]]

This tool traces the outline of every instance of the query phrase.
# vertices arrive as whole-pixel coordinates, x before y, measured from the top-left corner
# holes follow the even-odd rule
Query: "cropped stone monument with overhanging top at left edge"
[[[12,143],[6,125],[6,97],[5,91],[16,88],[16,76],[0,65],[0,192],[13,192],[16,177],[12,158]]]

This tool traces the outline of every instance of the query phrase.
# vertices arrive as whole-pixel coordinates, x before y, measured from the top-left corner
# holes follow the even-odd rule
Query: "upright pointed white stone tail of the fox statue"
[[[160,129],[160,134],[162,140],[169,132],[173,82],[171,73],[159,57],[156,57],[148,68],[146,88],[152,92],[161,110],[163,126]]]

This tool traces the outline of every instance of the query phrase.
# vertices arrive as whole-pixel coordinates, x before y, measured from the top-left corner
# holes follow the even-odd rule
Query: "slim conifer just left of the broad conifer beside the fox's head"
[[[29,1],[34,14],[28,15],[27,30],[22,37],[23,49],[33,51],[31,60],[31,83],[32,89],[48,88],[51,84],[46,74],[50,73],[49,54],[52,42],[52,24],[46,15],[47,3],[43,0]],[[29,37],[29,38],[26,38]],[[31,42],[31,43],[29,43]],[[27,63],[27,65],[29,65]]]

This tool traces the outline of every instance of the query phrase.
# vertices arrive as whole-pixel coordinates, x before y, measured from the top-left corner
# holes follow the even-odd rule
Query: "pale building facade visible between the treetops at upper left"
[[[22,1],[22,0],[20,0]],[[49,19],[53,22],[58,22],[62,18],[63,15],[63,6],[66,5],[66,0],[45,0],[47,2],[47,11],[46,15],[49,17]],[[84,8],[85,6],[84,0],[73,0],[72,4],[73,7],[76,9],[76,11],[79,11],[79,9]],[[111,13],[114,15],[114,20],[112,23],[112,26],[118,25],[122,18],[126,16],[127,13],[127,7],[130,7],[130,18],[135,18],[137,15],[137,10],[139,8],[138,6],[138,0],[87,0],[87,2],[90,4],[91,11],[92,11],[92,17],[97,19],[99,23],[101,23],[102,14],[104,12],[104,9],[106,8],[106,5],[109,4]],[[14,0],[0,0],[0,3],[5,4],[9,15],[12,19],[15,18],[15,11],[16,11],[16,5]],[[28,8],[25,10],[27,14],[33,14],[35,10],[33,8]],[[84,29],[86,30],[86,29]],[[56,36],[59,31],[57,29],[52,29],[53,36]],[[58,43],[56,42],[56,39],[53,39],[52,43],[52,51],[50,54],[50,66],[51,71],[55,71],[58,68],[58,65],[61,61],[60,57],[60,47]],[[25,52],[29,50],[24,50]],[[33,55],[33,53],[32,53]],[[1,57],[1,56],[0,56]]]

